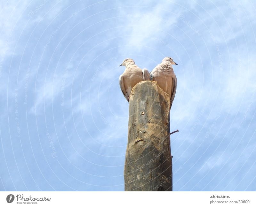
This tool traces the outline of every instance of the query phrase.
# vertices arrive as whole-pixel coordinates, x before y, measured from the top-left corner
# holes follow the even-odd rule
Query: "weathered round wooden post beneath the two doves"
[[[170,98],[154,81],[130,95],[125,191],[172,191]]]

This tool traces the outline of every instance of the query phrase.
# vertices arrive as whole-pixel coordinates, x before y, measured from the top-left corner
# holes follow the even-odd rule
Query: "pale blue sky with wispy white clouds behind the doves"
[[[174,191],[256,190],[253,1],[1,1],[0,190],[123,191],[125,58],[171,56]]]

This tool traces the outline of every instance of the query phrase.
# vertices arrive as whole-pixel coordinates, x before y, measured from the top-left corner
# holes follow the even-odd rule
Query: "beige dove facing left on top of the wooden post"
[[[132,88],[143,80],[150,80],[147,69],[141,70],[131,58],[127,58],[119,66],[125,66],[124,73],[119,77],[120,88],[124,97],[129,102]]]

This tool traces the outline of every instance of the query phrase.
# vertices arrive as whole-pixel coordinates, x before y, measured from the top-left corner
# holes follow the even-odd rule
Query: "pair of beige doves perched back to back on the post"
[[[119,77],[120,88],[124,97],[129,102],[132,88],[143,80],[156,81],[160,88],[170,96],[172,106],[176,93],[177,78],[173,71],[172,65],[178,65],[171,57],[165,57],[162,63],[158,64],[152,72],[147,69],[140,69],[131,58],[127,58],[119,66],[125,66],[124,73]]]

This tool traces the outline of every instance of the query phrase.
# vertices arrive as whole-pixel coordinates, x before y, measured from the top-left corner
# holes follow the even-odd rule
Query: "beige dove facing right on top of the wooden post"
[[[176,87],[177,87],[177,78],[173,71],[172,65],[178,65],[173,61],[171,57],[165,57],[162,60],[162,63],[157,65],[150,72],[150,79],[156,81],[157,84],[168,93],[170,96],[170,108],[172,107],[172,102],[175,97]]]

